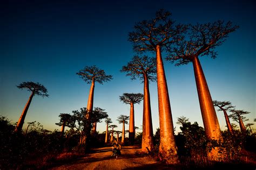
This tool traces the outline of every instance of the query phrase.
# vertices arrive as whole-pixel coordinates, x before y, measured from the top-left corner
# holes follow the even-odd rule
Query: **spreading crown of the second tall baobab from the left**
[[[110,81],[112,75],[106,75],[103,69],[99,69],[98,67],[94,66],[86,66],[84,69],[79,70],[78,73],[80,78],[82,78],[86,83],[91,83],[92,80],[103,84],[103,82]]]

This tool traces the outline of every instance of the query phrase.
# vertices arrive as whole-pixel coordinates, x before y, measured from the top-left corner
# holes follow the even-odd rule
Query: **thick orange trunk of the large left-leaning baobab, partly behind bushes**
[[[208,89],[204,72],[200,65],[198,56],[194,56],[192,62],[206,136],[208,139],[223,140],[221,136],[219,121],[214,109],[214,105],[212,103],[210,90]],[[210,159],[216,159],[218,155],[218,148],[215,148],[210,153],[208,153],[208,157]]]

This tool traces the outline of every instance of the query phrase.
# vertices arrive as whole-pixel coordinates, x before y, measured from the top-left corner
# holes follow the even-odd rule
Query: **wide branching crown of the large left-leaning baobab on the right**
[[[206,24],[190,24],[187,30],[188,36],[176,41],[176,47],[166,59],[172,63],[176,62],[176,66],[187,64],[199,55],[209,55],[215,59],[217,56],[215,48],[223,44],[228,34],[238,28],[239,26],[233,26],[231,22],[225,23],[223,20]]]

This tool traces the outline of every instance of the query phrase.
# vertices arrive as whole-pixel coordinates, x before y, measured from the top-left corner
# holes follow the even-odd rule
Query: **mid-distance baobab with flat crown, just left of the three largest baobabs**
[[[120,101],[123,101],[126,104],[130,104],[130,123],[129,123],[129,142],[133,145],[135,138],[134,130],[134,104],[140,103],[143,100],[143,94],[141,93],[124,93],[122,96],[119,96]]]

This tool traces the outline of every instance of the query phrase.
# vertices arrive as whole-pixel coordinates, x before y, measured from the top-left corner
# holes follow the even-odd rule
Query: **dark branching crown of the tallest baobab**
[[[186,30],[186,26],[175,25],[170,17],[170,12],[161,9],[156,12],[156,17],[136,23],[134,31],[129,33],[134,51],[156,51],[157,45],[164,51],[170,51],[171,44],[182,39]]]

